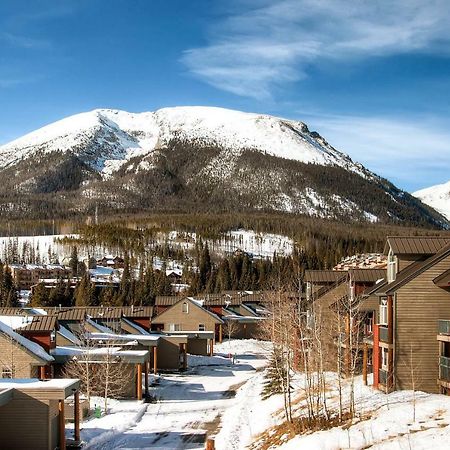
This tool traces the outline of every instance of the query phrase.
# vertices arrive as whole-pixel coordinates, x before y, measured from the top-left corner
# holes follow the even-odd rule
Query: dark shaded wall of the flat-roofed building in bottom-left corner
[[[50,410],[53,414],[50,401],[39,401],[14,391],[13,399],[0,407],[1,449],[53,450],[56,445],[51,446],[53,439],[49,439]]]

